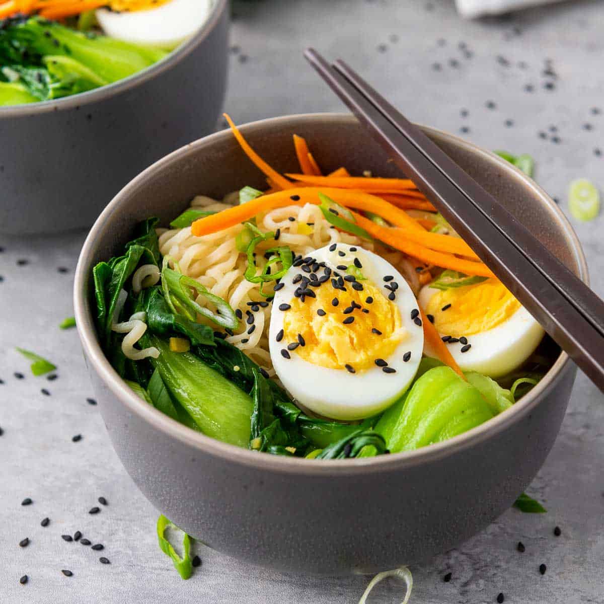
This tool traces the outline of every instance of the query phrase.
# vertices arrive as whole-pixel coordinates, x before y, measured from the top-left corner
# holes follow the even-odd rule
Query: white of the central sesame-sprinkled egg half
[[[384,360],[388,362],[388,366],[396,369],[396,373],[384,373],[382,368],[377,366],[355,374],[351,374],[345,369],[320,367],[305,361],[295,350],[290,353],[290,359],[284,359],[281,356],[281,350],[286,348],[289,342],[277,342],[276,336],[283,329],[284,314],[292,312],[292,310],[281,311],[279,305],[289,303],[294,298],[294,291],[298,285],[293,284],[292,279],[301,272],[300,268],[292,266],[281,279],[284,287],[275,292],[269,328],[269,350],[272,364],[284,387],[294,399],[314,413],[339,420],[370,417],[399,399],[413,381],[423,350],[423,329],[411,319],[411,311],[418,307],[417,300],[405,279],[387,260],[373,252],[356,247],[358,252],[351,252],[350,245],[338,243],[335,252],[330,252],[329,246],[327,246],[310,255],[316,259],[316,262],[325,262],[332,271],[336,272],[338,272],[337,265],[352,264],[355,255],[358,255],[363,265],[364,276],[385,295],[390,292],[382,289],[386,284],[383,278],[385,275],[393,275],[394,281],[399,284],[394,304],[399,308],[405,334],[394,352]],[[346,255],[340,257],[337,255],[338,251],[344,251]],[[303,272],[301,274],[304,275]],[[323,268],[318,273],[318,275],[321,274],[323,274]],[[332,288],[332,285],[330,281],[327,281],[321,287]],[[333,291],[334,294],[337,294],[336,290]],[[411,352],[411,358],[404,362],[403,355],[406,352]]]

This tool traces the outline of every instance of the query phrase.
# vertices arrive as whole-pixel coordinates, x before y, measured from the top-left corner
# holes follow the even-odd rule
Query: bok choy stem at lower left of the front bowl
[[[251,397],[192,353],[172,352],[167,342],[152,334],[143,339],[144,345],[159,350],[158,358],[150,362],[170,397],[201,431],[231,445],[248,446],[254,407]]]

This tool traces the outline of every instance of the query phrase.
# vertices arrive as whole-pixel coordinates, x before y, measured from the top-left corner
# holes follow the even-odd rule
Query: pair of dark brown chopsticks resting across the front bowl
[[[554,341],[604,391],[604,301],[346,63],[306,59]]]

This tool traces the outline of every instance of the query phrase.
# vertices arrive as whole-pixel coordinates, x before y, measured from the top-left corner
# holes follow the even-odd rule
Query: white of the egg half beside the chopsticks
[[[429,285],[424,286],[418,298],[420,306],[425,309],[430,298],[438,291]],[[478,371],[496,378],[522,365],[544,335],[543,327],[521,306],[512,316],[492,329],[467,336],[468,344],[472,345],[467,352],[461,352],[463,344],[460,342],[447,343],[446,346],[463,371]],[[436,356],[428,345],[424,352],[428,356]]]

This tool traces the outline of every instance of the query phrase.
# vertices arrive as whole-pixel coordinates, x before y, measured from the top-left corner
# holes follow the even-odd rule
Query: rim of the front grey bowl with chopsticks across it
[[[358,123],[356,118],[349,114],[342,113],[314,113],[314,114],[298,114],[284,115],[281,117],[266,118],[264,120],[254,121],[251,123],[239,126],[244,133],[253,134],[261,132],[268,125],[283,123],[284,127],[291,128],[297,123],[316,124],[321,121],[340,121],[341,123]],[[422,129],[435,135],[439,140],[446,140],[454,143],[467,152],[471,152],[490,162],[495,162],[510,176],[521,179],[525,187],[533,194],[538,196],[541,201],[547,205],[550,210],[553,210],[554,216],[557,218],[559,226],[565,231],[567,240],[571,245],[571,251],[574,252],[577,265],[579,266],[580,278],[585,283],[589,283],[588,271],[579,239],[567,217],[564,216],[562,210],[555,202],[539,187],[532,179],[528,178],[521,170],[504,160],[495,153],[489,152],[473,143],[469,143],[451,133],[443,130],[421,126]],[[518,422],[529,414],[542,400],[556,387],[557,381],[562,372],[570,369],[567,367],[571,361],[565,352],[556,359],[554,365],[545,374],[541,382],[536,385],[533,390],[526,396],[498,416],[493,417],[487,422],[476,426],[471,430],[457,435],[452,439],[442,443],[426,446],[414,451],[405,451],[393,455],[377,455],[376,457],[352,459],[352,460],[308,460],[306,458],[284,457],[281,455],[259,455],[255,451],[249,451],[235,445],[223,443],[212,439],[200,432],[195,432],[187,426],[182,425],[169,416],[161,413],[154,407],[150,406],[143,399],[138,397],[126,383],[121,379],[118,373],[111,367],[108,359],[104,356],[100,344],[97,341],[94,321],[90,313],[86,312],[86,297],[88,295],[89,283],[89,265],[96,247],[96,239],[99,233],[103,230],[106,222],[112,214],[120,210],[121,203],[129,197],[130,191],[135,190],[141,182],[152,175],[156,170],[181,161],[185,156],[191,155],[199,147],[211,147],[214,144],[219,144],[227,137],[230,137],[230,130],[221,130],[207,137],[201,138],[193,143],[190,143],[181,149],[178,149],[159,161],[152,164],[146,170],[141,172],[137,177],[132,179],[129,184],[118,193],[114,199],[107,205],[95,221],[91,228],[77,263],[76,275],[74,280],[74,312],[76,315],[77,329],[82,342],[83,351],[92,364],[91,369],[97,373],[101,381],[108,387],[111,394],[126,405],[127,409],[139,416],[145,422],[150,423],[153,428],[164,432],[173,439],[179,440],[184,445],[199,449],[205,454],[221,458],[223,461],[231,463],[239,463],[244,466],[254,467],[265,471],[272,471],[285,474],[297,475],[316,475],[316,476],[333,476],[336,475],[359,475],[365,472],[387,472],[394,469],[403,469],[405,467],[418,466],[422,463],[438,460],[442,457],[455,454],[463,451],[466,448],[477,445],[486,439],[489,439],[495,434],[506,429],[508,426]],[[90,266],[90,269],[92,266]]]

